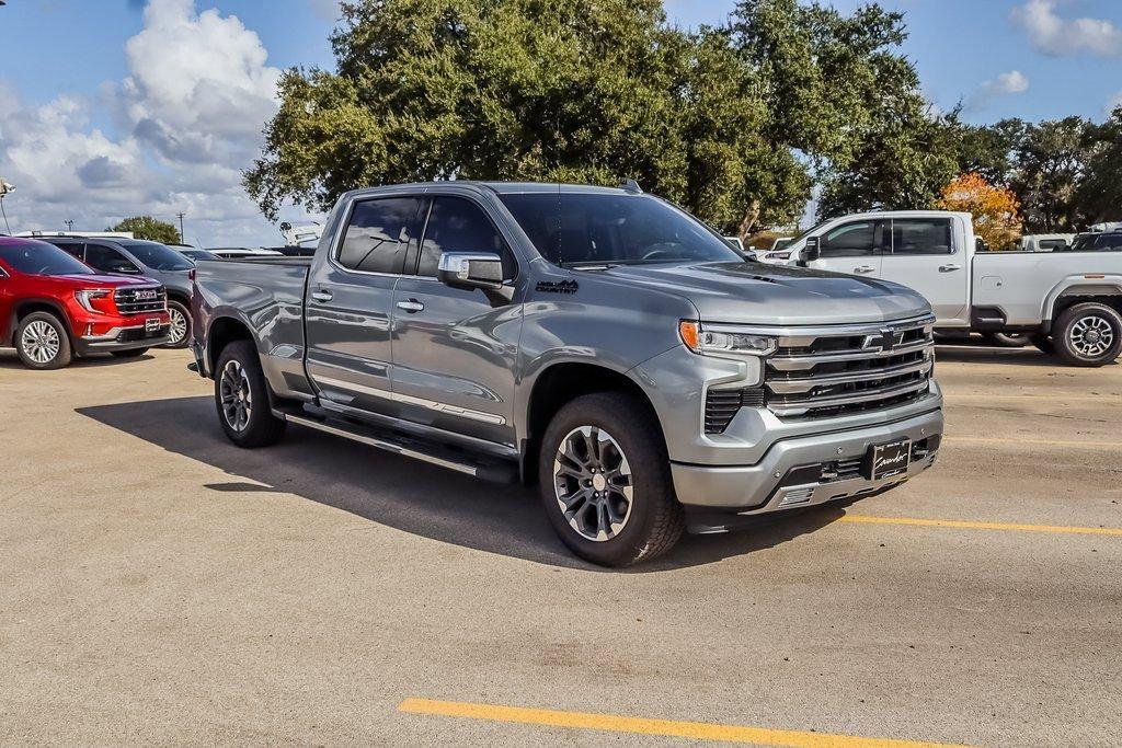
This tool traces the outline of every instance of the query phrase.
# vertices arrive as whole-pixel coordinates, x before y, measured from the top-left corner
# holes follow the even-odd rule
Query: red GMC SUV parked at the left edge
[[[140,355],[168,341],[167,294],[149,278],[99,275],[54,244],[0,237],[0,345],[33,369],[76,353]]]

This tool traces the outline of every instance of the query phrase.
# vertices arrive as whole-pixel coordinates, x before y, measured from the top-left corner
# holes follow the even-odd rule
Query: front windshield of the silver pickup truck
[[[499,198],[554,265],[744,261],[700,221],[650,195],[537,192]]]

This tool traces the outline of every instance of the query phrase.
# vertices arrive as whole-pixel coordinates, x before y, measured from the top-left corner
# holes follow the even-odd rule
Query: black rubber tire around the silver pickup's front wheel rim
[[[576,473],[560,479],[574,487],[573,492],[588,492],[587,500],[578,498],[571,505],[578,507],[571,515],[578,525],[582,524],[581,518],[590,519],[589,514],[599,519],[600,504],[611,506],[611,511],[617,516],[623,514],[622,506],[629,508],[624,514],[619,528],[611,526],[610,515],[603,515],[611,526],[611,534],[609,536],[608,533],[603,533],[606,538],[599,541],[570,525],[570,518],[558,497],[559,479],[554,474],[554,462],[562,444],[568,442],[570,435],[586,427],[590,430],[590,434],[596,434],[597,453],[604,455],[603,463],[597,461],[597,464],[608,467],[599,471],[604,474],[598,479],[597,486],[601,489],[613,488],[615,483],[608,482],[613,480],[609,473],[620,467],[626,467],[629,472],[629,479],[626,480],[631,488],[629,501],[626,501],[622,491],[603,490],[606,498],[603,501],[596,499],[598,504],[594,504],[592,479],[588,479],[585,488],[576,488],[578,484],[586,484],[586,480],[576,478]],[[611,444],[600,442],[601,434]],[[650,407],[626,393],[583,395],[565,404],[553,416],[542,437],[539,459],[542,505],[561,542],[574,554],[601,566],[627,566],[662,555],[678,543],[686,528],[686,517],[674,496],[670,460],[661,434],[662,428]],[[601,444],[604,452],[599,451]],[[625,462],[616,459],[619,455]],[[580,474],[590,473],[581,468]],[[618,475],[616,479],[619,480]],[[607,512],[608,509],[604,511]]]

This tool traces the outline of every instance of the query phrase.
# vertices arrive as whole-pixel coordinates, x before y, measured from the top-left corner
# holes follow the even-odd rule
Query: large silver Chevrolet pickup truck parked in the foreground
[[[886,490],[942,433],[919,294],[745,261],[634,186],[364,190],[313,258],[194,274],[192,368],[234,444],[292,423],[536,482],[599,564]]]

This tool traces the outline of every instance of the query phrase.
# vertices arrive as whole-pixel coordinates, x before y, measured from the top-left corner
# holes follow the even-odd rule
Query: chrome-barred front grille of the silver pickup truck
[[[935,367],[934,324],[784,331],[765,364],[767,408],[781,418],[826,418],[922,397]]]

